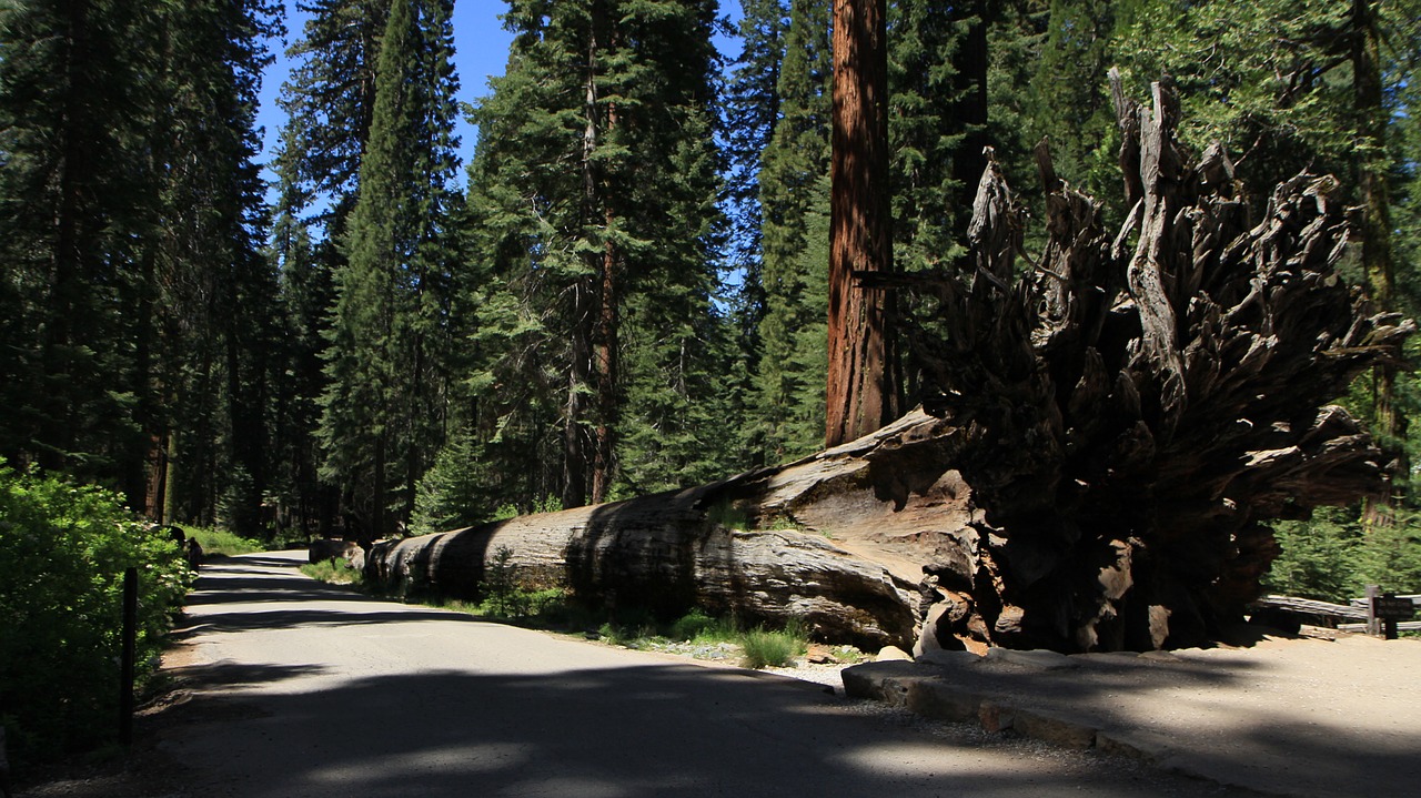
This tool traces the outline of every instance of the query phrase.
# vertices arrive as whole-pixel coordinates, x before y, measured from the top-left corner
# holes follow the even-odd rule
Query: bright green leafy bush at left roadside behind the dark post
[[[138,568],[138,663],[152,670],[189,572],[117,494],[0,463],[0,709],[17,761],[117,731],[125,568]]]

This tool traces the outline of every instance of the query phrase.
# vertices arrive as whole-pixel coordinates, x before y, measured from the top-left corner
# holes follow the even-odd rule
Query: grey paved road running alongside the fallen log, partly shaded
[[[304,552],[203,568],[192,794],[1242,795],[1128,760],[928,727],[806,686],[371,601]]]

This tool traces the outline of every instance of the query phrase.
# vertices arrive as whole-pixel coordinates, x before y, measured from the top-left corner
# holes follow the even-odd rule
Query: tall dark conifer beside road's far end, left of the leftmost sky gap
[[[254,131],[270,61],[263,41],[280,24],[264,0],[175,6],[163,21],[165,105],[153,151],[162,224],[152,246],[173,312],[158,321],[162,369],[153,379],[172,409],[153,436],[169,442],[162,450],[172,457],[155,483],[169,481],[162,494],[180,503],[163,507],[165,517],[220,518],[252,535],[271,474],[280,362]]]

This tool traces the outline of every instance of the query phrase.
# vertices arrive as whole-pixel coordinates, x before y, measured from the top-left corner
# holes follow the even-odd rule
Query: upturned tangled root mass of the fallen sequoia
[[[1188,646],[1242,618],[1277,554],[1269,518],[1385,487],[1387,456],[1329,406],[1415,325],[1336,273],[1353,219],[1299,175],[1258,222],[1214,146],[1174,139],[1168,84],[1142,108],[1113,87],[1133,210],[1056,177],[1047,243],[1017,275],[1020,213],[995,165],[958,268],[863,275],[935,302],[911,337],[925,403],[963,432],[953,464],[983,513],[976,571],[936,640],[1057,650]],[[931,569],[931,568],[929,568]],[[935,613],[936,616],[936,613]]]

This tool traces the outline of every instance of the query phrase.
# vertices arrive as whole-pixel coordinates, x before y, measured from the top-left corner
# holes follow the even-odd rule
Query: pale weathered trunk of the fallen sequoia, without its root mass
[[[388,589],[473,596],[509,548],[517,579],[605,606],[675,616],[701,606],[747,623],[803,621],[820,638],[911,645],[919,551],[956,551],[965,488],[953,427],[925,413],[779,469],[684,491],[524,515],[375,545]],[[776,528],[789,527],[789,528]],[[895,554],[897,552],[897,554]]]

